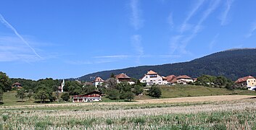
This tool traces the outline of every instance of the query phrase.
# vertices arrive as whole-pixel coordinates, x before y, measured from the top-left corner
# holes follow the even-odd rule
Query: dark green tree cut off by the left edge
[[[0,89],[4,92],[12,90],[11,82],[7,74],[0,71]]]

